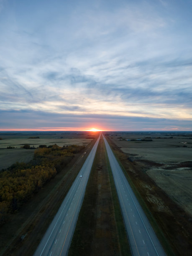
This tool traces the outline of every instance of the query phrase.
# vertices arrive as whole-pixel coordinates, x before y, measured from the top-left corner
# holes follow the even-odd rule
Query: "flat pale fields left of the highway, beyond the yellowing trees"
[[[0,170],[8,168],[15,162],[27,163],[33,159],[34,149],[21,148],[25,144],[37,148],[39,145],[69,146],[78,145],[86,146],[95,135],[91,133],[0,133]],[[30,138],[33,137],[33,138]],[[35,138],[39,137],[39,138]],[[7,149],[7,147],[14,147]]]

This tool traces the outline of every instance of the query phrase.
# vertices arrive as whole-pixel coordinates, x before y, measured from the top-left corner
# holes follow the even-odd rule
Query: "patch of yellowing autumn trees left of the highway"
[[[46,182],[53,179],[74,154],[84,146],[72,145],[60,147],[56,144],[46,147],[40,145],[34,152],[33,160],[28,164],[15,163],[0,172],[0,224],[6,216],[18,210],[24,202],[37,193]]]

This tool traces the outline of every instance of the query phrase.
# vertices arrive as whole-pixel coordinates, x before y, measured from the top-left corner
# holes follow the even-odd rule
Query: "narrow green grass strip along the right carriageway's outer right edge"
[[[125,170],[122,162],[119,159],[119,152],[117,150],[114,150],[114,145],[113,142],[110,141],[107,136],[105,136],[105,138],[107,139],[108,143],[110,144],[110,148],[113,151],[113,154],[115,155],[115,158],[118,161],[118,164],[120,165],[121,169],[123,170],[123,173],[125,174],[125,177],[127,178],[131,188],[133,189],[134,194],[136,195],[141,207],[143,208],[143,211],[145,212],[149,222],[151,223],[151,226],[153,227],[156,236],[159,238],[159,241],[161,242],[161,245],[163,246],[165,252],[167,255],[170,256],[174,256],[175,253],[172,250],[172,246],[169,243],[168,239],[165,237],[163,230],[159,227],[156,219],[153,217],[151,211],[149,210],[149,208],[146,205],[146,202],[143,200],[142,195],[138,192],[138,188],[136,187],[136,185],[133,183],[133,180],[131,179],[131,177],[129,176],[128,172]]]

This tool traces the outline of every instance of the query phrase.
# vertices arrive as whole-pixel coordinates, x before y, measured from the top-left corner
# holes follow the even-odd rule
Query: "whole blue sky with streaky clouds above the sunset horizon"
[[[192,0],[0,0],[0,131],[192,131]]]

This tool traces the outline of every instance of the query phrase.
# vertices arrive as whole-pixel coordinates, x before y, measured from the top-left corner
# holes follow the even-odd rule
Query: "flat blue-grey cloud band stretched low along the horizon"
[[[65,128],[75,127],[99,127],[101,129],[107,129],[108,131],[145,131],[145,130],[174,130],[189,131],[192,121],[185,120],[169,120],[165,118],[143,118],[143,117],[122,117],[118,115],[63,115],[55,113],[47,113],[43,111],[0,111],[0,115],[3,118],[1,129],[6,130],[10,128],[12,121],[15,123],[15,130],[20,127],[20,122],[23,123],[24,129],[39,128],[48,129],[55,127],[62,130]],[[12,121],[10,120],[12,119]],[[23,122],[23,119],[25,122]],[[50,122],[51,120],[51,122]]]

